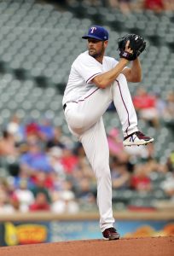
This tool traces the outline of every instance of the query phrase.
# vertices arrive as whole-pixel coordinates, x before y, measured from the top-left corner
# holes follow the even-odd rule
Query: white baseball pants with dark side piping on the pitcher
[[[112,182],[109,167],[109,148],[102,115],[114,102],[124,137],[137,129],[136,111],[131,100],[125,75],[106,89],[91,89],[76,102],[67,102],[65,116],[70,131],[83,144],[85,154],[96,175],[97,204],[100,227],[104,231],[113,226]]]

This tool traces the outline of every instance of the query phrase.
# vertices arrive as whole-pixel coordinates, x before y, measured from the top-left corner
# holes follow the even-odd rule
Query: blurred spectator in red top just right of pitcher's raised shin
[[[133,97],[133,103],[139,117],[148,121],[150,125],[159,128],[159,116],[156,109],[156,98],[140,87]]]

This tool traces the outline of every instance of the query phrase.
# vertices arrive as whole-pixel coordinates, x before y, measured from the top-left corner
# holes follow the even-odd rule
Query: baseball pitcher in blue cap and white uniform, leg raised
[[[154,141],[154,138],[138,130],[136,111],[127,84],[141,81],[142,68],[138,55],[146,48],[146,42],[132,34],[120,38],[120,59],[116,61],[105,56],[108,32],[104,27],[91,26],[82,38],[87,40],[88,50],[73,61],[62,105],[69,130],[83,144],[96,175],[103,238],[116,240],[119,233],[113,227],[109,148],[102,115],[113,102],[122,125],[125,146]],[[131,67],[127,67],[129,61]]]

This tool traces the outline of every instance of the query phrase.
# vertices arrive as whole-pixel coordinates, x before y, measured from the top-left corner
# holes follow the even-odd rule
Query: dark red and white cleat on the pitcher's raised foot
[[[153,137],[145,136],[141,131],[136,131],[124,138],[124,146],[140,146],[154,142]]]

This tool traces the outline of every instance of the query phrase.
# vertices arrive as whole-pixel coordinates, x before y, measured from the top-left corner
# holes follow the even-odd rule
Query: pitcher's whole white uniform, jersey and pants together
[[[85,51],[73,62],[62,104],[70,131],[83,144],[87,158],[96,175],[97,204],[100,227],[113,226],[112,182],[109,167],[109,148],[102,115],[114,102],[124,137],[138,131],[136,112],[124,74],[106,89],[91,82],[97,75],[115,67],[118,61],[104,56],[102,64]]]

